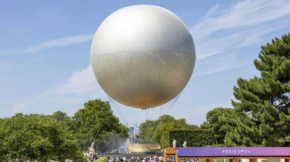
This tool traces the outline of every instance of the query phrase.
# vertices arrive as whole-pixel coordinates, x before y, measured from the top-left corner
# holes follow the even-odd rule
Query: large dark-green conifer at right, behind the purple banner
[[[227,146],[285,146],[290,133],[290,33],[261,46],[254,61],[261,77],[239,78],[232,101],[237,111],[250,118],[235,116],[223,120]]]

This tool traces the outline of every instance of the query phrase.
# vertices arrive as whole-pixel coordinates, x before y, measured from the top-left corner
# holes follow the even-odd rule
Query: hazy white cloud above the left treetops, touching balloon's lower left
[[[28,96],[18,101],[0,100],[0,112],[2,113],[0,118],[19,112],[52,114],[57,110],[73,115],[89,99],[103,98],[107,100],[106,94],[94,77],[90,64],[69,75],[65,81],[62,80],[37,97]]]

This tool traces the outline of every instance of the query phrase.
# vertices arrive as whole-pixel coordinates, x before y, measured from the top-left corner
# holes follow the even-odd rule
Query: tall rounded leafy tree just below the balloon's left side
[[[89,100],[84,107],[69,122],[82,151],[87,151],[93,141],[100,150],[119,148],[126,141],[129,129],[113,115],[109,101]]]

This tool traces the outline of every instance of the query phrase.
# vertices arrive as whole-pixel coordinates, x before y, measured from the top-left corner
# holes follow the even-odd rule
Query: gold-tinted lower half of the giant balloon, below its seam
[[[175,98],[187,85],[195,57],[187,53],[119,52],[91,58],[101,88],[115,101],[150,109]]]

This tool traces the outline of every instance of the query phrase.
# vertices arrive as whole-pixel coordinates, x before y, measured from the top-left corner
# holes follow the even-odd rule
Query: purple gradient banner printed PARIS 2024
[[[179,157],[211,156],[290,156],[290,147],[185,147],[178,148]]]

